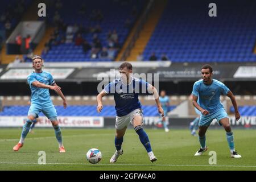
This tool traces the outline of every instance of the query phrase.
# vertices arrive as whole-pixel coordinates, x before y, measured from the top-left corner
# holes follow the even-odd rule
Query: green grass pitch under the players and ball
[[[60,154],[53,129],[38,129],[28,134],[18,152],[13,146],[19,141],[20,129],[0,129],[0,170],[256,170],[255,130],[233,130],[235,147],[241,159],[230,158],[223,129],[208,130],[208,151],[193,156],[199,149],[197,137],[189,130],[145,129],[158,161],[151,163],[138,135],[128,129],[122,145],[124,154],[110,164],[114,154],[114,129],[62,129],[66,153]],[[89,164],[86,152],[98,148],[102,160]],[[39,151],[46,152],[46,165],[39,165]],[[216,151],[217,164],[209,164],[209,151]]]

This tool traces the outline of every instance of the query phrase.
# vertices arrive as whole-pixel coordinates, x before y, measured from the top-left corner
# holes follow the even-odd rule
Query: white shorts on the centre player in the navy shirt
[[[121,117],[117,116],[115,118],[115,129],[122,130],[123,128],[127,127],[129,123],[133,125],[133,119],[136,115],[141,115],[143,123],[142,109],[135,109],[127,115],[123,115]]]

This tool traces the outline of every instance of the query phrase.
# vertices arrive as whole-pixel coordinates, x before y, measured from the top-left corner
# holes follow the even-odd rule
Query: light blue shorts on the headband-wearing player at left
[[[35,118],[38,118],[40,112],[43,112],[50,121],[57,121],[57,112],[52,102],[47,104],[31,104],[27,115],[33,115]]]

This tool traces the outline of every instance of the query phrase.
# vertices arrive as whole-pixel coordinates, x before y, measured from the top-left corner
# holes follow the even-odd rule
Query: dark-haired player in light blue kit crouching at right
[[[212,79],[213,68],[210,65],[204,65],[201,68],[201,76],[203,79],[196,81],[193,85],[193,106],[201,112],[199,121],[199,142],[200,150],[196,152],[195,156],[202,155],[207,151],[206,137],[210,123],[213,119],[217,119],[219,125],[222,125],[226,131],[226,139],[228,141],[230,155],[232,158],[241,158],[241,155],[237,153],[234,148],[234,136],[230,127],[229,117],[224,109],[224,106],[220,102],[220,95],[224,94],[228,96],[232,101],[235,110],[235,117],[238,121],[240,119],[240,113],[238,111],[236,98],[229,88],[222,82]],[[197,100],[199,99],[199,104]]]

